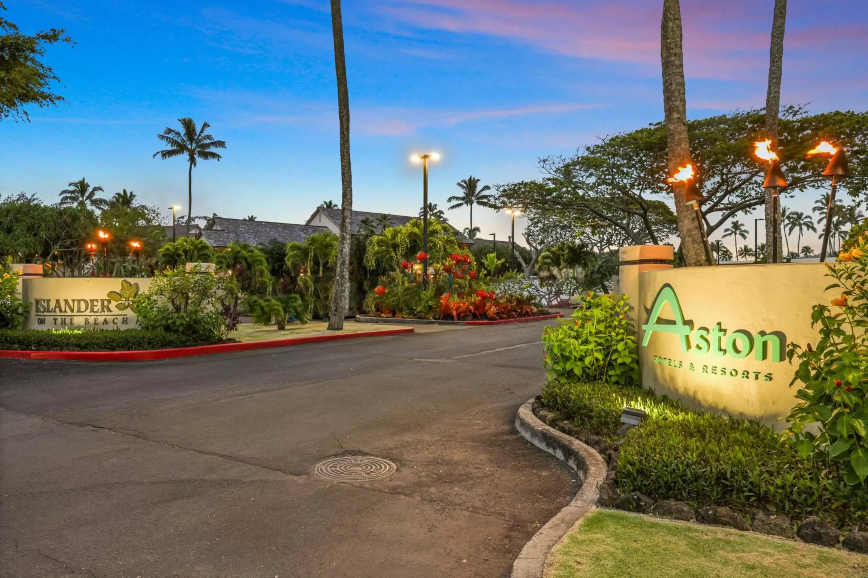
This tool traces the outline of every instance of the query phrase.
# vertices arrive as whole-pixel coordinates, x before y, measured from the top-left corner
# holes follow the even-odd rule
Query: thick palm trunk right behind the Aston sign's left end
[[[681,47],[681,4],[679,0],[663,0],[660,55],[663,72],[663,109],[666,117],[666,141],[669,173],[690,162],[690,141],[687,139],[687,95],[684,89],[684,54]],[[694,209],[684,204],[687,186],[674,185],[675,215],[678,234],[687,266],[706,263],[705,243]]]

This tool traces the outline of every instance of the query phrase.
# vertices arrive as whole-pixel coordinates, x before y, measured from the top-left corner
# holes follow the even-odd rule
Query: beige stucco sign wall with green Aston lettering
[[[786,345],[817,342],[811,308],[830,298],[824,274],[820,263],[640,273],[643,385],[694,409],[780,426],[796,403]]]

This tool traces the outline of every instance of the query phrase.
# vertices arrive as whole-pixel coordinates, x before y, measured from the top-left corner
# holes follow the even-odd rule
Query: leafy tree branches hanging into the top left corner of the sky
[[[0,2],[0,10],[6,10]],[[42,62],[46,47],[57,42],[73,44],[64,29],[40,30],[33,36],[22,34],[14,23],[0,18],[0,120],[28,120],[24,107],[56,106],[63,97],[51,84],[59,81]]]

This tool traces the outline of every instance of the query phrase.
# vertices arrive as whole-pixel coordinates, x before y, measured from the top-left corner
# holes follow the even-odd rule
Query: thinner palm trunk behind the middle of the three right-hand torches
[[[766,89],[766,137],[772,148],[778,148],[778,116],[780,110],[780,79],[784,69],[784,30],[786,29],[786,0],[774,0],[772,45],[769,49],[768,88]],[[780,223],[780,211],[774,214],[772,190],[766,189],[766,247],[774,243],[774,225]],[[781,234],[778,231],[778,255],[781,254]]]

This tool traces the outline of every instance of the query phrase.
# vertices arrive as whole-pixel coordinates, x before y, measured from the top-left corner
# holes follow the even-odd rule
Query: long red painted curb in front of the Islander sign
[[[17,360],[66,360],[66,361],[153,361],[194,355],[228,354],[235,351],[266,349],[267,347],[291,347],[320,341],[339,341],[359,337],[377,337],[413,333],[413,328],[385,329],[383,331],[359,331],[334,335],[311,335],[310,337],[286,337],[266,341],[218,343],[197,347],[174,347],[173,349],[145,349],[142,351],[10,351],[0,350],[0,357]]]

